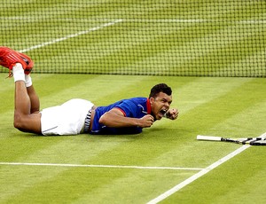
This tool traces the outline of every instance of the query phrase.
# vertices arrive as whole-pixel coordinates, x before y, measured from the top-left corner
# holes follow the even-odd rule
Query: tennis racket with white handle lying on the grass
[[[227,137],[215,137],[215,136],[197,136],[198,140],[207,141],[222,141],[231,142],[240,145],[266,145],[266,132],[260,137],[246,137],[246,138],[227,138]]]

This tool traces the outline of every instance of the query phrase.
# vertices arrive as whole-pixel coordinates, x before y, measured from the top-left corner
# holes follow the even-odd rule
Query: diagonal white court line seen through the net
[[[96,31],[98,29],[101,29],[103,27],[110,27],[110,26],[113,26],[113,24],[115,23],[119,23],[121,22],[122,20],[113,20],[112,22],[109,22],[109,23],[105,23],[105,24],[102,24],[98,27],[91,27],[90,29],[88,30],[84,30],[84,31],[80,31],[76,34],[72,34],[72,35],[66,35],[64,37],[61,37],[61,38],[58,38],[58,39],[54,39],[52,41],[49,41],[49,42],[45,42],[45,43],[40,43],[40,44],[37,44],[35,46],[32,46],[30,48],[27,48],[27,49],[24,49],[24,50],[21,50],[20,52],[26,52],[26,51],[32,51],[32,50],[35,50],[35,49],[38,49],[38,48],[41,48],[41,47],[44,47],[44,46],[47,46],[47,45],[50,45],[50,44],[53,44],[53,43],[59,43],[61,41],[65,41],[69,38],[73,38],[73,37],[76,37],[76,36],[79,36],[79,35],[85,35],[85,34],[88,34],[90,32],[93,32],[93,31]]]

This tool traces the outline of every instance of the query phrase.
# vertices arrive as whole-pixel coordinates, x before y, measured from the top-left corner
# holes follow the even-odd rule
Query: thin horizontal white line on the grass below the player
[[[202,170],[201,168],[183,167],[141,167],[123,165],[94,165],[94,164],[64,164],[64,163],[24,163],[24,162],[0,162],[0,165],[17,166],[52,166],[52,167],[83,167],[83,168],[113,168],[113,169],[168,169],[168,170]]]

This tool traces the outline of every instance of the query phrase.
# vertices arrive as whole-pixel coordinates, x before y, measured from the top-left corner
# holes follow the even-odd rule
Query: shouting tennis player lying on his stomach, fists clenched
[[[165,83],[153,86],[148,98],[129,98],[109,106],[95,106],[74,98],[40,111],[31,76],[34,63],[25,54],[0,47],[0,65],[10,70],[15,82],[14,127],[41,135],[137,134],[166,117],[176,120],[170,108],[172,90]]]

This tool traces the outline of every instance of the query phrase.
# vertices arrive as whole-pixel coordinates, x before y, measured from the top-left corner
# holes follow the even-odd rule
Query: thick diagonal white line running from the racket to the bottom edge
[[[198,179],[199,177],[202,177],[203,175],[207,174],[207,172],[209,172],[212,169],[215,169],[216,167],[220,166],[221,164],[223,164],[223,162],[230,160],[231,158],[233,158],[234,156],[238,155],[239,153],[243,152],[244,150],[246,150],[248,147],[250,147],[250,145],[242,145],[239,149],[237,149],[236,151],[226,155],[225,157],[223,157],[221,160],[216,161],[215,163],[211,164],[210,166],[208,166],[206,169],[202,169],[200,170],[199,173],[194,174],[192,177],[189,177],[188,179],[184,180],[184,182],[181,182],[180,184],[176,184],[175,187],[171,188],[170,190],[168,190],[167,192],[164,192],[162,194],[160,194],[160,196],[158,196],[157,198],[150,200],[149,202],[147,202],[147,204],[155,204],[160,202],[161,200],[165,200],[166,198],[168,198],[168,196],[172,195],[173,193],[179,191],[180,189],[182,189],[184,186],[186,186],[187,184],[191,184],[193,181],[195,181],[196,179]]]

